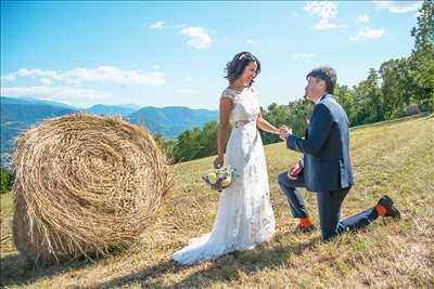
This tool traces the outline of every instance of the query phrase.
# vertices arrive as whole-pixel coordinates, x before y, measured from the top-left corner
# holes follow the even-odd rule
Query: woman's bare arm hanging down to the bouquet
[[[218,123],[217,135],[217,158],[214,160],[214,167],[224,166],[226,134],[229,126],[229,115],[232,109],[232,100],[229,97],[220,98],[220,121]]]

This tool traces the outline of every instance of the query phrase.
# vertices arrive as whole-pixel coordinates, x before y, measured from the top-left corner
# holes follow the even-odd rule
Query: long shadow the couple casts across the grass
[[[170,260],[130,275],[98,284],[91,288],[119,288],[132,284],[140,284],[141,287],[146,288],[192,288],[213,283],[230,281],[239,279],[242,273],[248,275],[267,267],[280,266],[292,258],[303,254],[307,249],[319,242],[321,242],[320,237],[315,237],[307,242],[291,242],[289,245],[270,244],[259,246],[252,251],[226,254],[215,261],[209,261],[212,263],[205,270],[195,272],[176,284],[165,285],[156,279],[166,274],[180,273],[194,265],[182,266]]]

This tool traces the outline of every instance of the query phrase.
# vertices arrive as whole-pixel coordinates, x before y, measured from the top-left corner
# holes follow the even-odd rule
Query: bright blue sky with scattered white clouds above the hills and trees
[[[419,1],[1,1],[1,95],[217,109],[241,51],[263,71],[261,106],[299,98],[330,65],[354,86],[409,55]]]

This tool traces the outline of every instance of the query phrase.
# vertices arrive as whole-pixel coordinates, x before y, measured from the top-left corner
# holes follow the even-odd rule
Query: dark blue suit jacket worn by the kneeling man
[[[304,154],[308,191],[339,191],[354,184],[348,118],[331,94],[324,94],[316,104],[305,137],[290,135],[286,147]]]

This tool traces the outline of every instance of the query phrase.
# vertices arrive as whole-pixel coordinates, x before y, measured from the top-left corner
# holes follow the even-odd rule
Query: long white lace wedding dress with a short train
[[[225,155],[225,167],[235,170],[233,183],[221,192],[213,231],[174,253],[173,259],[181,264],[253,249],[275,233],[263,141],[256,128],[256,92],[253,88],[227,88],[221,97],[233,102],[229,118],[232,132]]]

